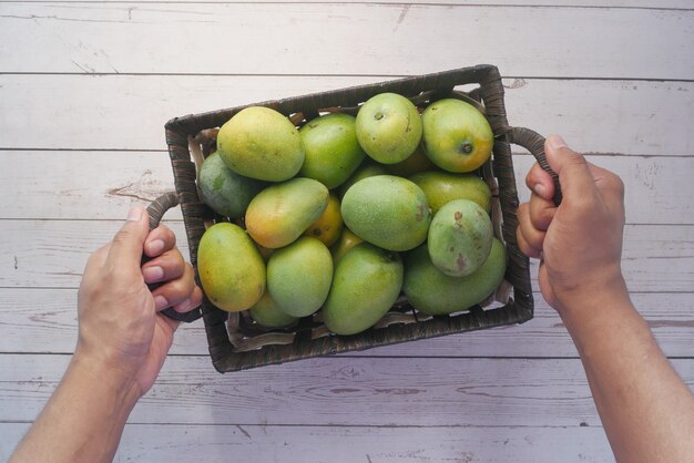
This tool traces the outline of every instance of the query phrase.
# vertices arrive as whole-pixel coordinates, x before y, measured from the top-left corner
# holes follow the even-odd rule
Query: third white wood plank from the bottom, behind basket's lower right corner
[[[538,292],[534,318],[523,325],[445,336],[358,352],[368,357],[565,357],[576,351],[561,319]],[[694,297],[691,292],[633,292],[632,300],[669,357],[694,352]],[[0,307],[1,353],[71,353],[78,336],[76,290],[6,288]],[[547,347],[552,346],[551,352]],[[182,325],[172,356],[207,356],[202,320]],[[357,353],[355,353],[357,354]]]

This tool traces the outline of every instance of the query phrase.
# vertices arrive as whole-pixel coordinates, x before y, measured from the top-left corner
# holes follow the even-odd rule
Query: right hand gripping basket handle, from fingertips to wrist
[[[518,208],[520,250],[540,258],[539,285],[560,313],[581,298],[625,292],[622,277],[624,185],[619,176],[570,150],[559,136],[544,143],[559,175],[563,200],[552,202],[554,184],[539,164],[525,177],[532,194]]]

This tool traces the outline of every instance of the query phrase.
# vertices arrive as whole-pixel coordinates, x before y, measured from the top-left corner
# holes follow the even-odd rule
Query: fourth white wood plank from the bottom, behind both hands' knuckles
[[[184,256],[183,223],[169,222]],[[76,288],[89,255],[121,223],[0,220],[0,288]],[[623,269],[632,290],[694,292],[694,233],[688,225],[630,225]],[[537,275],[537,264],[531,275]]]

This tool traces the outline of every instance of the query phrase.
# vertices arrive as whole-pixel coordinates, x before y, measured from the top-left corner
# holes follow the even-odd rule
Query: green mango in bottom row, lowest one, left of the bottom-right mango
[[[368,243],[348,250],[323,307],[325,326],[337,335],[355,335],[376,325],[398,298],[402,274],[397,253]]]

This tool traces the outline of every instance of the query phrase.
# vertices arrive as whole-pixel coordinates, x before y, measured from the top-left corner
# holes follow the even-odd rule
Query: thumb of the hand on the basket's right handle
[[[544,153],[550,167],[559,175],[564,198],[579,198],[593,192],[595,179],[585,157],[567,146],[561,136],[548,136]]]

